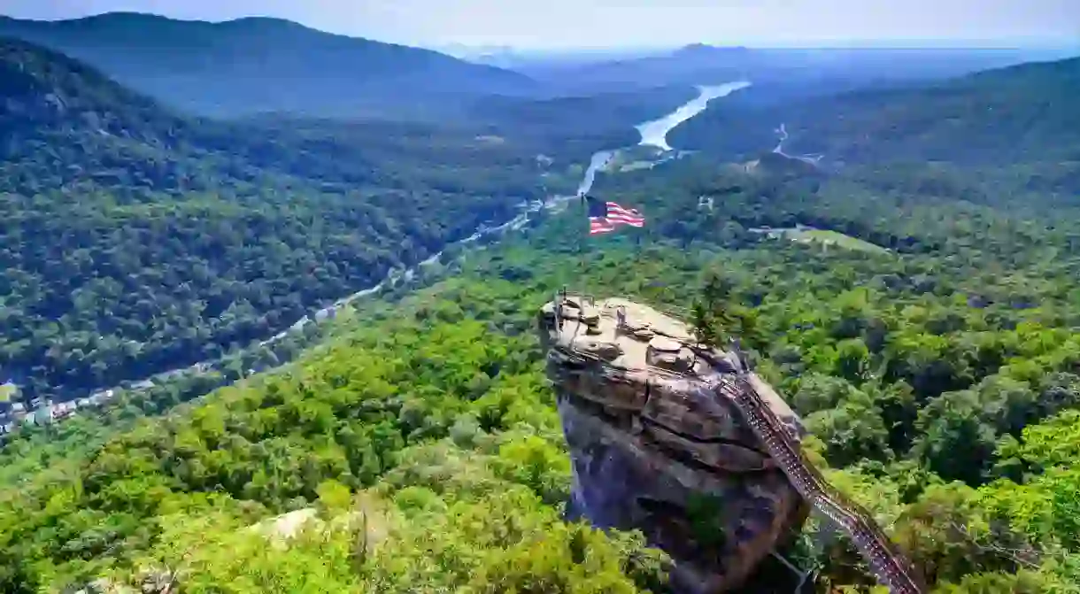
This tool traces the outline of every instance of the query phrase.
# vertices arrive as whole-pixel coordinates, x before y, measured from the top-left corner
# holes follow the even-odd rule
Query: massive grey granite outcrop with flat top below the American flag
[[[573,462],[571,513],[640,529],[693,594],[738,588],[797,534],[806,503],[715,391],[734,357],[706,360],[685,325],[622,299],[561,296],[538,322]],[[798,440],[795,414],[768,405]]]

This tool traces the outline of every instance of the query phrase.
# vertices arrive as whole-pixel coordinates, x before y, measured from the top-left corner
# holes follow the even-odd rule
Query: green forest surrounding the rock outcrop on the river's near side
[[[906,252],[761,239],[729,215],[755,203],[762,216],[797,213],[806,190],[714,176],[725,200],[698,211],[693,166],[654,172],[662,192],[602,180],[602,194],[646,210],[640,232],[591,239],[571,211],[464,254],[431,288],[364,305],[275,374],[129,429],[49,429],[93,444],[70,451],[16,440],[19,459],[49,460],[4,476],[8,588],[137,583],[156,568],[192,592],[658,592],[664,559],[633,535],[559,519],[569,465],[532,319],[563,285],[680,311],[715,278],[726,307],[756,320],[758,370],[804,416],[829,478],[941,591],[1072,592],[1077,296],[1067,272],[1036,257],[1065,254],[1061,239],[1025,242],[1012,226],[1039,221],[957,201],[881,204],[922,222],[897,228],[918,240]],[[971,232],[1000,252],[976,254],[949,227],[969,211]],[[690,239],[687,221],[720,239]],[[958,242],[937,242],[950,233]],[[1017,291],[1024,303],[1010,301]],[[339,528],[287,549],[243,530],[308,505]],[[823,584],[872,584],[826,534],[810,526],[791,555]]]

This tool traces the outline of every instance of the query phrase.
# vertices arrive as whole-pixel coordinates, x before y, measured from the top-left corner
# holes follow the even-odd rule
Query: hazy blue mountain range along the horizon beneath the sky
[[[332,35],[276,18],[224,23],[108,13],[71,21],[0,17],[0,37],[90,64],[183,111],[287,112],[443,121],[477,98],[552,98],[753,80],[754,100],[947,78],[1029,58],[1021,50],[748,49],[523,52],[431,50]],[[659,52],[659,53],[657,53]],[[464,59],[461,59],[464,58]]]

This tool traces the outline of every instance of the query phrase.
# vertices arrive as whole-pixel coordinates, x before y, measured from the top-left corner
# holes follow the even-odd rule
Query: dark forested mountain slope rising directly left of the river
[[[267,338],[539,197],[543,147],[481,134],[188,119],[0,42],[0,369],[75,397]]]

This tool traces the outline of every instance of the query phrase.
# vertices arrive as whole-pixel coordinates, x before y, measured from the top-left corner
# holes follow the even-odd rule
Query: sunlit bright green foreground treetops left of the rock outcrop
[[[475,297],[474,315],[502,309]],[[92,456],[24,470],[29,482],[0,491],[4,589],[137,584],[163,568],[198,592],[653,588],[664,562],[639,537],[559,519],[569,461],[534,340],[475,320],[363,324],[280,374],[87,445]],[[382,501],[360,503],[366,537],[351,522],[281,546],[245,529],[310,504],[337,526],[370,499],[356,489]]]

